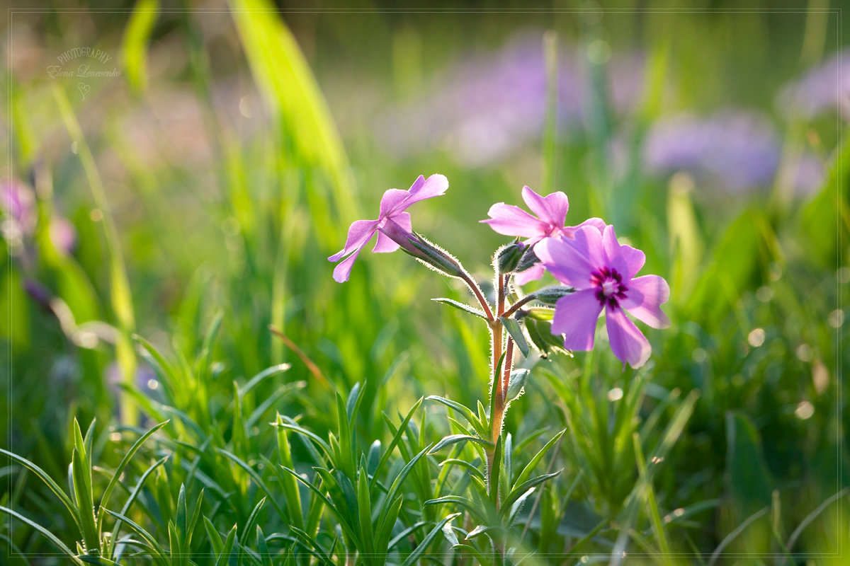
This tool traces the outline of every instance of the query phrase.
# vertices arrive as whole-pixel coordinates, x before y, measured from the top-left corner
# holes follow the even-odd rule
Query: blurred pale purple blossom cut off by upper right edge
[[[850,119],[850,49],[834,53],[800,79],[786,84],[776,106],[786,117],[799,114],[812,118],[838,108],[844,120]]]

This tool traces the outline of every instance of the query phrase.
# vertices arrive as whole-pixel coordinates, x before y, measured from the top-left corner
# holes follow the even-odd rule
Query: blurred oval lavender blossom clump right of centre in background
[[[643,160],[649,171],[690,171],[740,191],[772,182],[779,153],[776,133],[766,120],[723,111],[707,118],[660,120],[645,141]]]

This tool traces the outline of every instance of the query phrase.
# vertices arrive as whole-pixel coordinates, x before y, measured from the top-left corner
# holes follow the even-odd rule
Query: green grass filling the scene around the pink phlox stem
[[[605,151],[619,124],[600,81],[595,119],[575,137],[553,126],[550,96],[530,160],[389,160],[367,126],[337,132],[333,110],[357,96],[334,90],[348,65],[410,97],[464,51],[467,28],[499,45],[515,22],[314,14],[313,35],[303,14],[286,15],[293,34],[255,9],[265,3],[234,2],[232,14],[138,6],[93,16],[100,41],[122,46],[124,76],[93,82],[90,96],[117,102],[93,110],[76,83],[8,77],[9,173],[37,192],[39,221],[25,243],[35,255],[3,239],[5,563],[617,563],[623,552],[626,563],[842,563],[850,144],[829,120],[787,126],[785,159],[808,143],[830,163],[805,199],[779,183],[712,197],[637,162],[615,178]],[[557,37],[541,43],[550,87],[554,46],[637,29],[632,16],[593,27],[556,15]],[[48,50],[77,41],[76,23],[27,17]],[[770,25],[643,17],[652,78],[632,155],[664,115],[666,88],[684,109],[772,111],[783,77],[835,33],[816,11],[805,37],[778,14]],[[672,19],[675,33],[649,33]],[[211,22],[227,48],[210,40]],[[729,100],[734,41],[722,37],[750,47],[729,63]],[[165,75],[154,72],[162,45],[179,67]],[[748,76],[766,53],[767,76]],[[264,114],[249,132],[216,103],[228,81],[256,85]],[[150,118],[168,88],[198,109],[185,122],[204,160],[168,145],[179,120]],[[134,115],[165,144],[145,149]],[[364,253],[343,285],[326,261],[383,190],[432,172],[450,189],[418,205],[415,228],[479,281],[507,238],[477,221],[493,202],[519,203],[522,182],[564,188],[568,219],[616,219],[646,251],[644,271],[672,286],[672,328],[644,328],[649,363],[622,370],[602,333],[592,353],[523,358],[524,395],[494,438],[487,325],[449,308],[476,305],[467,289],[401,253]],[[59,213],[77,229],[70,255],[49,237]],[[25,292],[31,281],[48,301]]]

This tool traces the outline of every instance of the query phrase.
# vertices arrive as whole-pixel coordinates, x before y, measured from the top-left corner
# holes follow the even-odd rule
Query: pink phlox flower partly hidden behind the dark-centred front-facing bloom
[[[529,246],[538,244],[544,238],[574,238],[575,230],[581,226],[596,227],[600,233],[604,230],[605,222],[601,218],[590,218],[577,227],[564,226],[567,211],[570,210],[570,200],[563,191],[543,197],[526,186],[523,187],[523,200],[537,216],[529,214],[519,206],[496,203],[487,211],[490,219],[481,222],[489,224],[496,233],[526,238],[524,244]],[[545,271],[543,265],[537,263],[517,273],[514,282],[524,285],[540,279]]]

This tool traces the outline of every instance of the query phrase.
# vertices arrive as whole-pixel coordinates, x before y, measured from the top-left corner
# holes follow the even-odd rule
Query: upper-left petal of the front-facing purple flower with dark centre
[[[594,227],[576,230],[575,238],[571,240],[544,238],[536,244],[534,251],[558,281],[575,289],[590,287],[592,272],[604,266],[598,261],[599,256],[604,256],[602,237]]]

